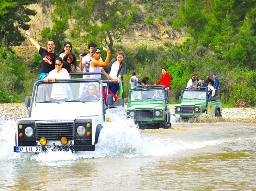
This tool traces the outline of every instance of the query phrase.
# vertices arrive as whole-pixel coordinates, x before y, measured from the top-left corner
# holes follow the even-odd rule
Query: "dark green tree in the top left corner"
[[[29,15],[36,15],[36,12],[26,6],[36,2],[35,0],[0,0],[0,41],[5,38],[7,46],[16,46],[25,40],[19,29],[29,29],[29,25],[26,24],[30,21]]]

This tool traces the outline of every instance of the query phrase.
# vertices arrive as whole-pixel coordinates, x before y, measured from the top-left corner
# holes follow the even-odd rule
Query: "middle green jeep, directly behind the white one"
[[[171,128],[169,97],[160,86],[129,91],[127,117],[132,117],[140,129]]]

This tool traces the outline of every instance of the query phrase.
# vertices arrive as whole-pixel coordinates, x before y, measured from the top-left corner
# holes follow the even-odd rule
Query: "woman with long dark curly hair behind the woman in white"
[[[70,72],[81,72],[81,69],[77,67],[76,55],[73,52],[67,53],[63,58],[63,68],[65,68],[68,73]]]

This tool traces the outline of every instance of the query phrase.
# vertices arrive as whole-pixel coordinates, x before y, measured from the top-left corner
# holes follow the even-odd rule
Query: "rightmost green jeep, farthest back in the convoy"
[[[174,116],[184,119],[208,113],[221,117],[220,90],[216,92],[215,97],[207,97],[207,94],[211,95],[211,90],[183,90],[180,104],[174,106]]]

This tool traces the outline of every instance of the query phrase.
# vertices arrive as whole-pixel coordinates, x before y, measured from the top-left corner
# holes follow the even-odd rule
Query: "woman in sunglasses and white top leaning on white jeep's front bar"
[[[69,79],[69,74],[66,69],[62,68],[63,60],[61,57],[55,60],[55,69],[49,72],[49,74],[43,80],[48,82],[50,79],[55,82],[56,79]],[[51,100],[52,101],[67,101],[68,90],[66,83],[57,83],[52,85]]]

